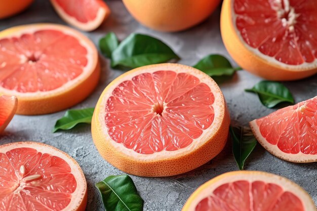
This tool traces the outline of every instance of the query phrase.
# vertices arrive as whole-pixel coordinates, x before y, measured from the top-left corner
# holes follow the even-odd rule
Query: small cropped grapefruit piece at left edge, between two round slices
[[[0,97],[0,134],[7,128],[18,106],[15,96],[3,95]]]

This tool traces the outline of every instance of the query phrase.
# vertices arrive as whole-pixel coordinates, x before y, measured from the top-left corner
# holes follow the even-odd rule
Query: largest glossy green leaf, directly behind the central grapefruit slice
[[[141,67],[179,59],[161,40],[144,34],[130,34],[112,52],[111,66]]]

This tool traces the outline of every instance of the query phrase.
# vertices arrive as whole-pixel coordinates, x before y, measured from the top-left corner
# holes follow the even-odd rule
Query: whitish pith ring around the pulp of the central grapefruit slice
[[[215,117],[214,117],[214,121],[210,125],[210,127],[206,130],[203,130],[203,134],[199,138],[193,139],[192,143],[185,148],[178,149],[176,151],[163,150],[161,152],[154,152],[152,154],[140,154],[138,152],[135,152],[133,149],[126,148],[122,143],[116,143],[115,141],[113,141],[110,138],[108,131],[107,131],[108,128],[105,124],[105,119],[104,119],[106,102],[107,102],[108,98],[112,95],[112,91],[121,82],[123,82],[125,80],[131,80],[134,76],[142,74],[142,73],[152,73],[152,72],[160,71],[160,70],[172,70],[172,71],[175,71],[176,73],[180,73],[180,72],[189,73],[189,74],[194,75],[197,78],[199,78],[201,82],[206,83],[209,86],[209,88],[211,89],[211,92],[215,96],[215,102],[212,105],[214,108]],[[133,158],[134,160],[139,160],[139,161],[164,160],[166,158],[170,158],[170,157],[174,157],[174,156],[181,156],[181,155],[184,155],[186,153],[190,153],[190,152],[194,151],[195,149],[201,147],[203,144],[205,144],[206,141],[209,140],[209,137],[212,137],[219,130],[220,124],[224,118],[225,102],[224,102],[224,98],[222,96],[222,93],[221,93],[219,87],[217,86],[216,82],[213,79],[211,79],[210,76],[206,75],[205,73],[203,73],[197,69],[191,68],[191,67],[184,68],[183,65],[165,64],[164,66],[163,65],[160,65],[160,66],[152,65],[152,66],[150,66],[148,68],[144,68],[144,69],[138,68],[138,71],[134,71],[133,73],[130,73],[130,74],[128,72],[128,73],[125,73],[124,75],[120,76],[116,81],[111,82],[110,85],[108,85],[108,87],[109,87],[109,89],[106,88],[106,90],[104,91],[106,93],[105,94],[103,93],[104,95],[102,94],[103,98],[99,99],[100,108],[98,108],[98,110],[100,110],[100,112],[98,113],[98,116],[96,116],[97,120],[101,124],[102,133],[106,137],[106,140],[111,140],[111,141],[107,141],[107,144],[111,144],[113,146],[113,148],[116,149],[117,152],[123,153],[126,156]],[[164,110],[166,108],[167,108],[167,106],[165,105]],[[159,115],[159,114],[157,114],[157,115]]]

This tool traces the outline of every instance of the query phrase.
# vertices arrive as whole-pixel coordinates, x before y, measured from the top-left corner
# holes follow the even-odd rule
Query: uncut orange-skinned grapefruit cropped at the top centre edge
[[[219,0],[124,0],[143,25],[158,31],[181,31],[205,20]]]

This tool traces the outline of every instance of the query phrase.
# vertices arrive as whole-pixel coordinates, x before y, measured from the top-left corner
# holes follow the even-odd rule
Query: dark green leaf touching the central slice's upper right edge
[[[193,66],[209,76],[231,76],[240,67],[233,68],[230,62],[223,56],[214,54],[208,55]]]

